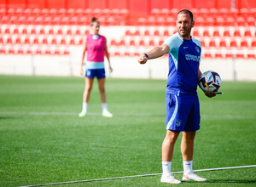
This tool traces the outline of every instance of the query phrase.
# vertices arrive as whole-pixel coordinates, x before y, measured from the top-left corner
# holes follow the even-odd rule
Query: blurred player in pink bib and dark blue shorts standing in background
[[[93,17],[91,20],[90,28],[92,34],[88,35],[84,39],[84,48],[81,59],[80,74],[83,75],[84,56],[85,52],[87,51],[87,60],[85,62],[85,87],[83,95],[83,109],[81,113],[79,113],[79,116],[82,117],[87,114],[90,91],[93,85],[93,80],[96,77],[98,80],[99,90],[102,99],[102,116],[112,117],[113,114],[108,111],[107,97],[105,92],[105,55],[108,59],[109,69],[111,72],[113,71],[108,55],[107,39],[106,37],[99,35],[100,23],[98,20],[96,20],[95,17]]]

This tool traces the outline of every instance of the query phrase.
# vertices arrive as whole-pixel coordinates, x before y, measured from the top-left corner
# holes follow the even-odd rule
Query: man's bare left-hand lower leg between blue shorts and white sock
[[[179,131],[167,130],[162,144],[162,161],[172,161],[174,144],[179,133]]]

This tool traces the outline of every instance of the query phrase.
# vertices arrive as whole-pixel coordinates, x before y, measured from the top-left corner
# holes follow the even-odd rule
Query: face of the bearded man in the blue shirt
[[[177,32],[178,34],[186,40],[190,39],[190,31],[194,26],[195,21],[192,21],[189,17],[189,14],[178,14],[177,15]]]

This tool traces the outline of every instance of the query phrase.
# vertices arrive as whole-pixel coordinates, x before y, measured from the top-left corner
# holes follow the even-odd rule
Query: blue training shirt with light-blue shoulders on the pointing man
[[[166,93],[194,95],[201,61],[201,42],[185,40],[178,33],[166,39],[169,50],[169,73]]]

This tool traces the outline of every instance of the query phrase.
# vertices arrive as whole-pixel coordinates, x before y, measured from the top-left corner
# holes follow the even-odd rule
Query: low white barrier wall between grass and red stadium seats
[[[81,53],[70,55],[0,55],[0,74],[79,77]],[[105,62],[107,77],[166,79],[167,56],[140,65],[137,57],[111,57],[113,72]],[[255,59],[201,59],[201,71],[217,71],[224,81],[256,81]]]

